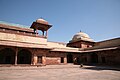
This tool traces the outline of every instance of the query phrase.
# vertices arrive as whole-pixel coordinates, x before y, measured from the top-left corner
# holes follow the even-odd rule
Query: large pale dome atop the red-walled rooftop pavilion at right
[[[78,32],[76,33],[73,38],[72,41],[79,41],[79,40],[84,40],[84,41],[91,41],[93,42],[93,40],[89,37],[88,34],[84,33],[84,32]]]

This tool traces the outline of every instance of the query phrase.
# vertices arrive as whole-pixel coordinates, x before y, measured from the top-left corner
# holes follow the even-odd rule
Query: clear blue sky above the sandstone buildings
[[[120,0],[0,0],[0,21],[30,26],[40,17],[53,25],[49,41],[80,30],[95,41],[120,37]]]

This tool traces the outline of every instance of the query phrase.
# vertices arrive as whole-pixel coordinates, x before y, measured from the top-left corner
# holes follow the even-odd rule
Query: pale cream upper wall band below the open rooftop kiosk
[[[0,40],[18,41],[26,43],[47,44],[47,39],[40,37],[25,36],[19,34],[0,32]]]

